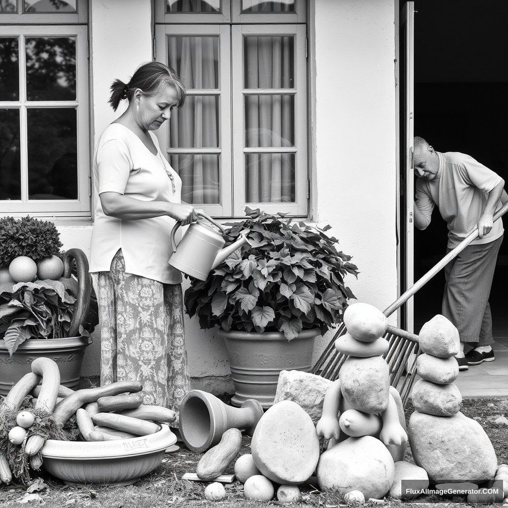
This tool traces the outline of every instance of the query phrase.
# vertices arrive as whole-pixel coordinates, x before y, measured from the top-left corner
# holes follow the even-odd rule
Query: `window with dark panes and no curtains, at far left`
[[[86,5],[0,6],[0,214],[89,215]]]

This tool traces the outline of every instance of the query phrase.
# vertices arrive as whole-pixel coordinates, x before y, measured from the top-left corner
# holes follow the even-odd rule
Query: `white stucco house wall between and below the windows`
[[[397,296],[395,0],[315,0],[311,101],[312,216],[330,224],[339,249],[354,256],[358,281],[345,279],[357,298],[384,309]],[[115,78],[129,79],[151,59],[150,0],[91,0],[92,137],[118,113],[108,104]],[[310,39],[312,44],[312,38]],[[315,56],[315,59],[314,59]],[[56,221],[64,248],[89,255],[91,224]],[[188,283],[184,281],[183,289]],[[186,316],[190,373],[229,374],[226,350],[215,331]],[[331,334],[317,342],[316,358]],[[82,375],[100,372],[100,340],[87,348]]]

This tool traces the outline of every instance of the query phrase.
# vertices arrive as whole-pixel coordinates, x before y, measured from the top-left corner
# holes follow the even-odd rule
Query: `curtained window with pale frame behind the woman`
[[[307,214],[305,3],[158,1],[156,59],[187,88],[158,132],[182,200]],[[192,23],[192,24],[191,24]]]

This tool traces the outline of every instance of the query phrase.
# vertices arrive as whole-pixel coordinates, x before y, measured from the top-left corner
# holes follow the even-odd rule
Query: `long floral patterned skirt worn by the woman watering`
[[[181,284],[163,284],[125,273],[121,249],[111,271],[99,272],[101,386],[138,380],[144,404],[177,413],[190,390],[183,333]]]

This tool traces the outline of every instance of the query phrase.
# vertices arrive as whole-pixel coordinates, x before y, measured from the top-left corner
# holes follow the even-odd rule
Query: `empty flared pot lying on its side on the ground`
[[[246,400],[238,408],[211,393],[191,390],[180,403],[180,433],[189,450],[202,453],[218,444],[228,429],[240,429],[251,436],[262,416],[257,400]]]

